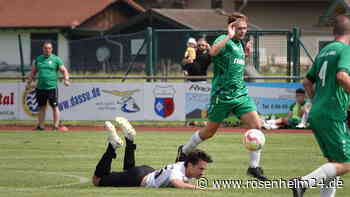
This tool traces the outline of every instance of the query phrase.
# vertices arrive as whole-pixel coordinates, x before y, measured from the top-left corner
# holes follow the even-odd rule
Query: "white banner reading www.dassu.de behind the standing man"
[[[123,116],[129,120],[143,120],[143,83],[72,83],[59,84],[58,108],[62,120],[112,120]],[[22,90],[22,120],[36,119],[35,89]],[[48,109],[47,119],[52,120]]]

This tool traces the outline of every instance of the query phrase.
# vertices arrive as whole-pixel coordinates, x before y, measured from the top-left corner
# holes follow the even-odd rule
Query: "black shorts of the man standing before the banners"
[[[58,105],[58,91],[56,89],[43,90],[36,89],[36,101],[39,107],[46,106],[49,101],[51,107],[57,107]]]

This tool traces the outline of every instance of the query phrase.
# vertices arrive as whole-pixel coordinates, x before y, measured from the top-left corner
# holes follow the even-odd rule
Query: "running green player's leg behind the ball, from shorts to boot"
[[[256,112],[256,106],[254,101],[250,97],[242,98],[241,104],[237,105],[234,109],[240,119],[248,126],[248,129],[259,129],[261,130],[261,120],[258,113]],[[259,180],[267,180],[263,175],[264,172],[260,167],[261,151],[249,151],[249,167],[247,174],[253,176]]]

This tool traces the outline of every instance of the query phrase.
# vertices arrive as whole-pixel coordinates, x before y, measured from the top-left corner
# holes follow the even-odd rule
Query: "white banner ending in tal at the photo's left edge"
[[[18,83],[0,83],[0,120],[18,118]]]

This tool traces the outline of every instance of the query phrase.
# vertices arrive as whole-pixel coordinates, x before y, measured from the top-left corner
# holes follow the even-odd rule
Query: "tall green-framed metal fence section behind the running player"
[[[153,35],[151,70],[154,70],[154,75],[161,76],[182,74],[181,60],[190,37],[206,38],[212,45],[219,35],[226,33],[212,30],[150,31]],[[253,53],[247,61],[248,76],[300,76],[299,36],[299,29],[248,31],[247,40],[253,41]]]

